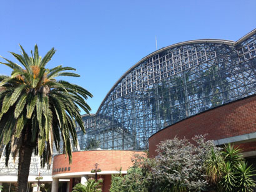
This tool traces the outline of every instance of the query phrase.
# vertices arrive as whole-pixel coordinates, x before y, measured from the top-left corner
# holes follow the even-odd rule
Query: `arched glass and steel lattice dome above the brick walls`
[[[81,149],[147,148],[158,130],[256,93],[256,30],[239,41],[197,40],[157,50],[122,75],[77,127]],[[95,143],[97,141],[97,143]]]

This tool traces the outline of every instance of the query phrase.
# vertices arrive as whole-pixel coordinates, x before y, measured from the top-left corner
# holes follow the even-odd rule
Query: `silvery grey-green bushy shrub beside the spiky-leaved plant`
[[[193,138],[197,145],[185,138],[161,142],[157,146],[156,166],[152,169],[155,191],[205,191],[209,182],[204,162],[209,156],[212,141],[202,136]]]

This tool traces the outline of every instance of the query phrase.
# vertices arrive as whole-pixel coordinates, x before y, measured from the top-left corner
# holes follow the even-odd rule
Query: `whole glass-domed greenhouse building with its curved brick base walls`
[[[87,133],[77,127],[81,149],[97,141],[97,147],[106,151],[74,153],[70,173],[65,171],[64,156],[58,155],[52,178],[69,178],[71,191],[71,185],[83,182],[101,161],[106,192],[109,174],[131,165],[126,150],[149,149],[154,157],[156,145],[175,135],[208,134],[216,145],[235,143],[255,166],[255,94],[256,29],[238,41],[202,39],[159,49],[117,80],[96,114],[82,115]],[[122,155],[113,158],[116,153]]]

